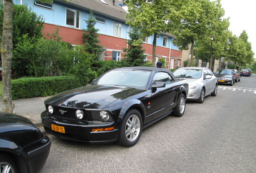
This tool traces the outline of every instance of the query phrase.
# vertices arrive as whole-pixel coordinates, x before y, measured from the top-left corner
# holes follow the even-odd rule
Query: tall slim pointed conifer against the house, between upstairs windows
[[[84,29],[85,33],[83,33],[85,51],[89,54],[95,54],[95,60],[97,60],[97,56],[103,46],[98,44],[100,42],[98,40],[99,34],[97,34],[99,29],[95,29],[94,27],[96,20],[93,18],[93,12],[90,12],[90,17],[85,20],[85,23],[87,24],[87,29]]]

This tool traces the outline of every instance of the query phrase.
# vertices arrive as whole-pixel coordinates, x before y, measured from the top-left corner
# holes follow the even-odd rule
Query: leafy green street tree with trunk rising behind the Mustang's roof
[[[157,34],[172,32],[174,26],[180,23],[181,14],[190,7],[191,0],[123,0],[122,2],[128,6],[126,24],[133,28],[141,27],[140,32],[143,36],[154,36],[152,65],[155,66]]]

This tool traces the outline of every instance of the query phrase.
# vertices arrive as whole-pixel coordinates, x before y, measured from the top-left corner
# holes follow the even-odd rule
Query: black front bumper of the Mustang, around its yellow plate
[[[68,121],[58,121],[54,117],[49,117],[47,112],[41,113],[41,120],[45,131],[64,139],[74,141],[83,141],[88,143],[111,143],[118,140],[119,128],[116,128],[114,122],[96,122],[90,121],[87,124],[79,122],[77,124]],[[65,133],[52,130],[52,124],[64,127]],[[92,129],[104,129],[114,127],[109,131],[92,131]]]

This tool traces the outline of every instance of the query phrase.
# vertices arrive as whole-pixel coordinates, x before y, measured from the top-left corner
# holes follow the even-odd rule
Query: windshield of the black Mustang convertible
[[[150,74],[150,71],[145,70],[112,70],[101,76],[93,84],[146,87]]]

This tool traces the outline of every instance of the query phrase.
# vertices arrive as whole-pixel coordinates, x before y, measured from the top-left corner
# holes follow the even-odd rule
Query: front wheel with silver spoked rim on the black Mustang
[[[130,110],[122,121],[118,143],[124,147],[132,147],[140,139],[142,118],[136,109]]]

